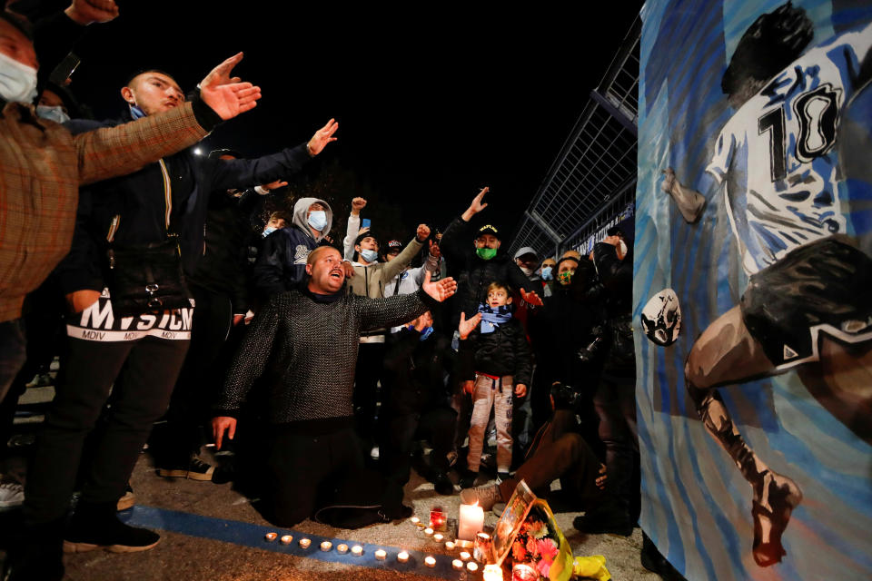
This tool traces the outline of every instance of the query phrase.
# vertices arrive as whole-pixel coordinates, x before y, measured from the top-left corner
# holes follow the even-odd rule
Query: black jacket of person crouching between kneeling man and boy
[[[451,392],[446,379],[456,359],[451,338],[434,330],[421,340],[418,331],[403,329],[391,334],[389,341],[382,405],[392,416],[448,407]]]

